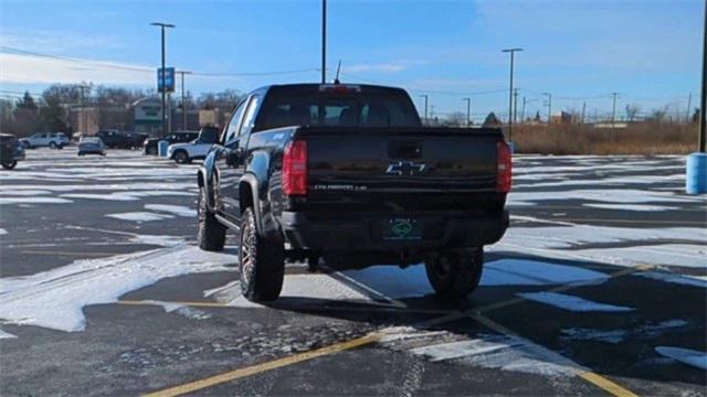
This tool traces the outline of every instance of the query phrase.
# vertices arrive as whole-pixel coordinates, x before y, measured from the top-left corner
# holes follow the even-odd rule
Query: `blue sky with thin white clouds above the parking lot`
[[[699,103],[704,1],[329,0],[327,79],[408,89],[422,111],[508,114],[509,56],[516,53],[518,117],[612,110],[642,114]],[[159,29],[167,65],[193,72],[193,95],[320,79],[320,1],[0,0],[0,97],[52,83],[155,88]],[[177,89],[181,89],[178,84]],[[434,108],[432,108],[434,107]]]

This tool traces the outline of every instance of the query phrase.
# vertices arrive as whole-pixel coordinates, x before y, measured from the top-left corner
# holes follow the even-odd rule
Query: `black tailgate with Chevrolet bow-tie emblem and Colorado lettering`
[[[443,211],[499,198],[495,129],[318,128],[298,137],[307,142],[310,204]]]

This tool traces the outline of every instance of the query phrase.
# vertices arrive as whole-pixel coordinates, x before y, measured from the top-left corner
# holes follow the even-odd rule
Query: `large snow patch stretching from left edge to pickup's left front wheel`
[[[233,257],[179,245],[115,257],[76,260],[32,276],[0,278],[0,319],[60,331],[86,326],[83,308],[113,303],[159,280],[228,271]],[[166,266],[169,264],[169,266]]]

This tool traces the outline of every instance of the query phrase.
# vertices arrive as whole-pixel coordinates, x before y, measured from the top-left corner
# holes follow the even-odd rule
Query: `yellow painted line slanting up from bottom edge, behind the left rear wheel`
[[[163,390],[147,394],[149,397],[166,397],[166,396],[180,396],[187,393],[201,390],[207,387],[212,387],[226,382],[236,380],[246,376],[264,373],[267,371],[282,368],[288,365],[302,363],[313,358],[321,357],[328,354],[339,353],[347,350],[360,347],[363,345],[377,342],[380,339],[378,334],[370,334],[362,337],[357,337],[347,342],[333,344],[326,347],[317,348],[309,352],[304,352],[295,355],[291,355],[284,358],[274,360],[261,364],[255,364],[249,367],[230,371],[220,375],[211,376],[204,379],[191,382],[184,385],[170,387]]]

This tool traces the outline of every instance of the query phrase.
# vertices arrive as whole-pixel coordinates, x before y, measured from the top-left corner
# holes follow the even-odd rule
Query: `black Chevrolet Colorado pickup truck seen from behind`
[[[285,260],[329,268],[424,261],[443,297],[478,285],[508,226],[511,155],[498,129],[425,128],[399,88],[277,85],[249,94],[198,172],[198,240],[240,230],[243,294],[279,296]]]

